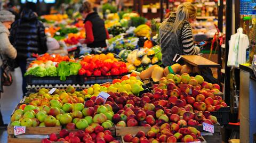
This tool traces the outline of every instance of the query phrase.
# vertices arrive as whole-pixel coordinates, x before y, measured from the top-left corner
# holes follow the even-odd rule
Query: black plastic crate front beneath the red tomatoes
[[[124,75],[109,75],[109,76],[78,76],[78,83],[79,85],[93,85],[95,83],[102,84],[106,82],[112,82],[114,79],[121,79]]]

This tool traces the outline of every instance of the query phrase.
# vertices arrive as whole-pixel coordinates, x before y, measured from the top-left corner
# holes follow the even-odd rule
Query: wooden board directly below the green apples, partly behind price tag
[[[58,127],[26,127],[26,133],[24,134],[59,134],[61,131],[61,126]],[[14,134],[14,129],[11,124],[7,127],[7,133],[9,135]]]

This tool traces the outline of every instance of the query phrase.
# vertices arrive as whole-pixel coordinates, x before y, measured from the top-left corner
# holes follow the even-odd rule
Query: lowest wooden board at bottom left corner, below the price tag
[[[42,139],[15,138],[13,135],[8,136],[8,143],[41,143]],[[63,143],[63,141],[52,141],[52,143]]]

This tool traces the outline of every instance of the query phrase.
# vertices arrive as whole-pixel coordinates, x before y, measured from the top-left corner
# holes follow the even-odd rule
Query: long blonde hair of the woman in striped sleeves
[[[177,36],[177,31],[179,30],[180,24],[187,19],[195,19],[196,18],[196,9],[191,3],[183,3],[178,6],[176,12],[176,18],[173,23],[172,32]]]

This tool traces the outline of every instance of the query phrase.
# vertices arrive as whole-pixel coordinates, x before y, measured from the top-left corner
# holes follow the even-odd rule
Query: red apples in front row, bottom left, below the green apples
[[[89,129],[90,128],[90,129]],[[75,132],[69,132],[67,129],[62,129],[60,131],[60,138],[55,133],[50,134],[49,139],[43,139],[42,143],[50,143],[52,141],[62,141],[63,143],[93,143],[93,142],[111,142],[111,143],[119,143],[116,140],[109,130],[104,130],[102,126],[97,125],[94,128],[89,126],[83,130],[78,130]]]

